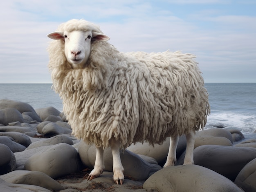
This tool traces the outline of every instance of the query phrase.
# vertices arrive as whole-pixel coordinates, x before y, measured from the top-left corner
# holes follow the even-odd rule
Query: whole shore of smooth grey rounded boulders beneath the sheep
[[[112,180],[112,154],[105,170],[87,180],[96,150],[71,135],[65,115],[53,107],[0,100],[1,192],[255,192],[256,132],[247,139],[239,130],[219,128],[197,133],[194,165],[182,165],[186,140],[180,138],[175,166],[162,168],[169,139],[121,151],[125,181]],[[254,138],[254,139],[252,139]]]

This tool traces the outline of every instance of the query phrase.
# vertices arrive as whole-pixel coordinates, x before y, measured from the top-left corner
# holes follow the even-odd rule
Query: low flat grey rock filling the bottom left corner
[[[22,185],[7,183],[3,179],[0,179],[1,192],[51,192],[45,188],[36,185]]]

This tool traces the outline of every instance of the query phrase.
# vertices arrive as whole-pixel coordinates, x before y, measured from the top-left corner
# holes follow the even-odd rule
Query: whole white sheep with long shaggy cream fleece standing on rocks
[[[70,20],[47,35],[53,88],[63,100],[72,134],[94,143],[96,160],[88,180],[104,170],[110,147],[113,180],[124,182],[120,151],[132,143],[162,144],[170,137],[164,167],[176,162],[179,137],[186,135],[184,164],[193,164],[195,131],[210,113],[208,93],[192,54],[121,53],[99,26]]]

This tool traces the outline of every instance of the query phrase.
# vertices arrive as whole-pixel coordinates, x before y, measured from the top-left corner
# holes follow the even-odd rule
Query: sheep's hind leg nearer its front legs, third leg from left
[[[176,163],[176,149],[179,142],[180,137],[178,135],[170,137],[170,146],[169,146],[169,152],[166,159],[166,163],[164,164],[164,168],[167,166],[174,166]]]

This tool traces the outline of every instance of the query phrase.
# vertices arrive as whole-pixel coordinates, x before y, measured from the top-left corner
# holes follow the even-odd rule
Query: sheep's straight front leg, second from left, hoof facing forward
[[[110,146],[113,156],[113,179],[115,183],[119,184],[120,181],[122,185],[124,183],[124,168],[120,159],[120,143],[119,141],[112,141]]]

